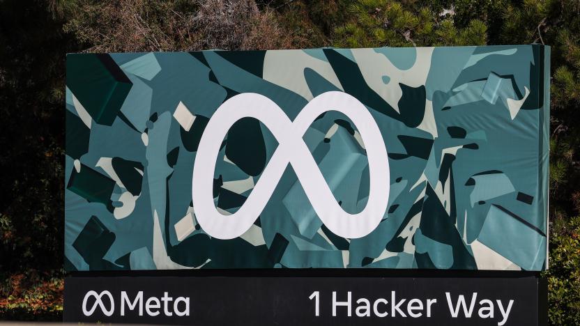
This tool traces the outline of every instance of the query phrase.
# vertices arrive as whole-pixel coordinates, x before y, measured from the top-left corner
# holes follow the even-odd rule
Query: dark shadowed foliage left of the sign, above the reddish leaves
[[[0,272],[63,264],[64,59],[77,47],[62,24],[45,3],[0,1]]]

